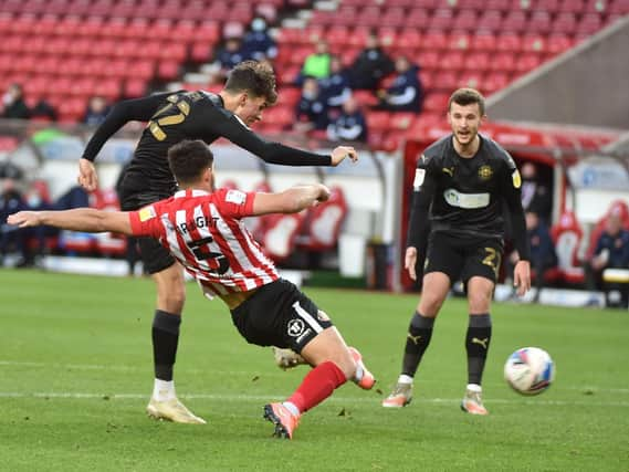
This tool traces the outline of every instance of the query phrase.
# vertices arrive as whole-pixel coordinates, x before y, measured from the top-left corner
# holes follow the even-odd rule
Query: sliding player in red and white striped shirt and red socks
[[[291,439],[303,412],[348,379],[370,389],[374,376],[357,349],[348,347],[329,317],[295,285],[279,276],[242,222],[266,213],[293,213],[327,200],[323,185],[279,193],[214,189],[213,156],[201,140],[185,140],[168,151],[179,190],[137,211],[21,211],[10,224],[156,238],[197,280],[203,293],[230,308],[240,334],[252,344],[291,348],[313,369],[284,402],[264,406],[274,434]]]

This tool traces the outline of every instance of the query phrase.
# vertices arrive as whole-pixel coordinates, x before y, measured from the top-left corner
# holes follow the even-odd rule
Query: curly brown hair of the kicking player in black
[[[230,71],[224,90],[230,93],[249,92],[255,97],[263,96],[269,105],[277,101],[275,73],[266,62],[241,62]]]

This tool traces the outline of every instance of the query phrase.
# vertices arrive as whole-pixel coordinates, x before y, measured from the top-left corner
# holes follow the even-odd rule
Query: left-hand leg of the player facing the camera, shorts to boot
[[[430,345],[434,319],[458,277],[462,259],[454,242],[445,235],[431,238],[428,247],[421,297],[408,327],[402,369],[391,394],[382,400],[385,408],[407,406],[412,398],[412,382],[423,353]]]

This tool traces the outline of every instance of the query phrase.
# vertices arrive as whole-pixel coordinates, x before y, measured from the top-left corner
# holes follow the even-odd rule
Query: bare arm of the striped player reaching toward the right
[[[252,216],[296,213],[329,198],[329,189],[321,183],[295,186],[279,193],[255,193]]]

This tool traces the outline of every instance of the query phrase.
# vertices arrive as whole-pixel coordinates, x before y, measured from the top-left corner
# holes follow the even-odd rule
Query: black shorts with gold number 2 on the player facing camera
[[[473,276],[497,281],[504,248],[496,238],[433,232],[428,240],[423,273],[443,272],[450,283],[464,284]]]

